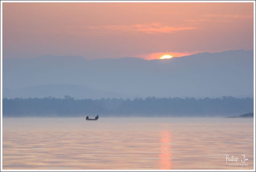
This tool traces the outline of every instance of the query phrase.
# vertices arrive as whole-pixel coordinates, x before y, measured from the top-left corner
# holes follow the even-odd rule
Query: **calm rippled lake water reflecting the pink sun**
[[[3,169],[253,169],[253,119],[3,118]]]

